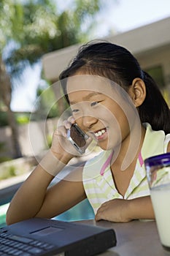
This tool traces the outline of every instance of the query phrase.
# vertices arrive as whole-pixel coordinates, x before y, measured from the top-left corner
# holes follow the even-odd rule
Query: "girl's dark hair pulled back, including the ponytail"
[[[83,74],[109,78],[128,91],[134,78],[144,80],[147,95],[139,106],[139,117],[151,124],[154,130],[170,133],[170,110],[155,81],[142,71],[139,62],[125,48],[111,42],[89,42],[82,45],[77,56],[59,79],[67,102],[66,78],[82,71]]]

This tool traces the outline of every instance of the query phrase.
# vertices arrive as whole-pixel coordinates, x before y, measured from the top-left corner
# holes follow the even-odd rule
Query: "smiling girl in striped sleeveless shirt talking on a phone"
[[[88,197],[96,221],[153,219],[144,159],[170,151],[170,113],[150,75],[128,50],[90,42],[61,73],[72,116],[58,127],[46,156],[18,189],[7,224],[55,217]],[[71,124],[96,140],[102,151],[53,187],[48,185],[76,150],[67,139]]]

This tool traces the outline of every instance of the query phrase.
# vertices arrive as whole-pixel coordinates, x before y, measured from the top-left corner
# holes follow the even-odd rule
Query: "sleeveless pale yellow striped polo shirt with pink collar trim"
[[[101,154],[90,159],[85,164],[82,180],[86,195],[95,214],[101,204],[108,200],[115,198],[133,199],[150,195],[143,161],[147,157],[166,153],[170,134],[165,135],[163,131],[153,131],[150,124],[147,123],[144,126],[147,130],[142,151],[136,162],[134,175],[124,197],[117,192],[112,178],[110,169],[112,151],[102,151]]]

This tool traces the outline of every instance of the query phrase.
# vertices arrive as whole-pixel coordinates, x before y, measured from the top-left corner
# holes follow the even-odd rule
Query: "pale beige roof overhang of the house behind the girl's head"
[[[106,37],[109,42],[122,45],[134,53],[135,56],[150,50],[167,47],[170,45],[170,17],[155,23],[133,29],[131,31]],[[80,45],[72,45],[61,50],[47,53],[42,57],[45,78],[55,81],[58,75],[67,67],[77,54]]]

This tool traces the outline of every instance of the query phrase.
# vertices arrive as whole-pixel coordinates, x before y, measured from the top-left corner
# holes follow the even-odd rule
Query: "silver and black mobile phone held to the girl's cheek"
[[[72,124],[70,129],[68,129],[67,138],[80,154],[85,153],[84,146],[89,136],[77,124]]]

